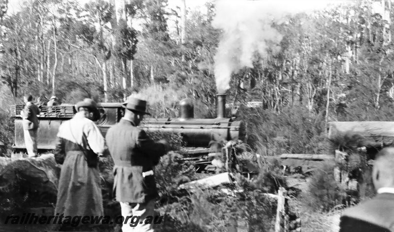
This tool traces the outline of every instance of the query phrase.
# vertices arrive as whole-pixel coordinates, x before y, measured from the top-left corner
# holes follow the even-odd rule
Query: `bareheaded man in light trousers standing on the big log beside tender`
[[[33,96],[27,94],[23,97],[26,103],[25,108],[21,111],[23,132],[25,135],[25,146],[29,157],[37,156],[37,130],[39,109],[34,105]]]

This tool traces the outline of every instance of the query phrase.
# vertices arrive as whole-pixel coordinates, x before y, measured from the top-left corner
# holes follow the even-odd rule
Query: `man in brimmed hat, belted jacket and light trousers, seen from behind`
[[[123,107],[124,117],[107,131],[105,139],[115,163],[116,201],[120,202],[125,218],[139,216],[140,223],[131,222],[129,217],[122,231],[153,232],[152,223],[145,224],[147,217],[154,217],[155,199],[159,196],[153,167],[169,146],[165,140],[152,141],[144,130],[137,128],[143,116],[150,115],[146,101],[129,97]]]

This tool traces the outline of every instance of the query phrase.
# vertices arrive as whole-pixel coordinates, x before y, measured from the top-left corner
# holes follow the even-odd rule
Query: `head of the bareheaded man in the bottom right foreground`
[[[394,187],[394,146],[385,147],[376,155],[373,180],[376,189]]]

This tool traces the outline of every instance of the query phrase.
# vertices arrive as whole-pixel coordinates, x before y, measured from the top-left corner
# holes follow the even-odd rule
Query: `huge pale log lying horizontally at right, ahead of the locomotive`
[[[389,146],[394,144],[394,122],[335,121],[328,123],[328,139],[355,140],[359,146]],[[357,140],[357,141],[356,141]]]

